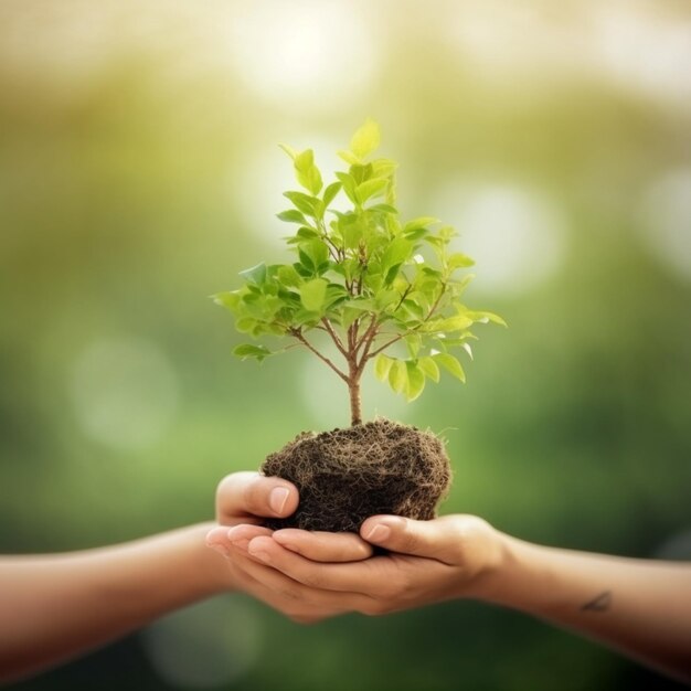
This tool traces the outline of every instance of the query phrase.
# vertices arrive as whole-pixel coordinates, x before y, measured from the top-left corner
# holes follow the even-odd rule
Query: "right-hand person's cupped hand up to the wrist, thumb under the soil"
[[[338,603],[366,615],[485,597],[504,559],[503,535],[472,515],[433,521],[378,515],[363,523],[360,534],[390,553],[354,563],[318,563],[325,538],[294,529],[247,534],[246,546],[254,559],[288,577],[291,591],[320,593],[326,605]]]

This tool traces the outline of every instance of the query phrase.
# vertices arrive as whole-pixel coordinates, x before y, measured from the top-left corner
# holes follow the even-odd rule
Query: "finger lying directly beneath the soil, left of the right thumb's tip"
[[[256,535],[258,536],[258,535]],[[355,533],[311,532],[286,528],[274,540],[313,562],[359,562],[372,556],[372,545]]]

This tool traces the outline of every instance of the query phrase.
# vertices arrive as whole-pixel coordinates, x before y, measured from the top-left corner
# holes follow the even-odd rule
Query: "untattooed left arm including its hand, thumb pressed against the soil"
[[[228,527],[256,523],[259,517],[289,515],[297,503],[297,489],[289,482],[238,472],[219,485],[216,520],[227,533]],[[246,550],[217,544],[217,523],[96,550],[0,557],[0,681],[66,661],[223,592],[251,593],[298,620],[343,612],[333,597],[312,603],[281,595],[293,581]],[[346,559],[371,554],[357,535],[332,536],[329,550]]]

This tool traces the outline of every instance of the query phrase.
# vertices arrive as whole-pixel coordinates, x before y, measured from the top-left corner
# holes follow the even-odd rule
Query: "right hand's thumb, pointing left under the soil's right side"
[[[391,552],[449,563],[449,523],[445,519],[415,521],[401,515],[373,515],[362,523],[364,540]]]

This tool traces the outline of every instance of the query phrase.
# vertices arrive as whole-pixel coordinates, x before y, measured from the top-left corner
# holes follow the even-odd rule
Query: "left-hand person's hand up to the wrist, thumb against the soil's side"
[[[298,501],[296,487],[280,478],[256,472],[228,475],[216,491],[216,519],[221,525],[209,532],[206,544],[226,557],[232,587],[253,595],[295,621],[312,623],[348,608],[332,593],[304,586],[247,552],[251,541],[272,539],[272,531],[257,524],[262,518],[290,515]],[[310,536],[307,555],[319,562],[363,560],[372,554],[372,548],[352,533],[307,534]]]

